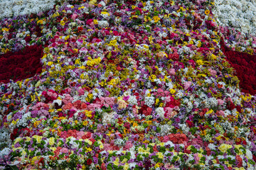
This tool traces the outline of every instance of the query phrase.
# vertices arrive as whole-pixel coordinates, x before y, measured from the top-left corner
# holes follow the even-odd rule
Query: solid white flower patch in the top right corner
[[[242,34],[256,35],[254,0],[216,0],[213,14],[220,26],[231,26]]]

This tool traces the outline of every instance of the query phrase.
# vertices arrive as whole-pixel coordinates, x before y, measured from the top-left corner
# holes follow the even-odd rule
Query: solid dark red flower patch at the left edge
[[[8,83],[10,79],[14,81],[27,79],[40,73],[42,55],[43,47],[38,45],[0,55],[0,82]]]

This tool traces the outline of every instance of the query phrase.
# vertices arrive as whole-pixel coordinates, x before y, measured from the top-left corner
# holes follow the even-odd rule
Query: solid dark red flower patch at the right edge
[[[221,49],[228,62],[236,70],[240,80],[241,91],[247,94],[256,94],[256,56],[244,52],[229,50],[223,43]]]

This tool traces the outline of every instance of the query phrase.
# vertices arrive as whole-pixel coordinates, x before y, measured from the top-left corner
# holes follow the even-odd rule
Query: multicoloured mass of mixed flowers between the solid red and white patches
[[[2,18],[2,55],[43,57],[40,74],[1,84],[1,169],[255,169],[256,98],[213,7],[65,1]]]

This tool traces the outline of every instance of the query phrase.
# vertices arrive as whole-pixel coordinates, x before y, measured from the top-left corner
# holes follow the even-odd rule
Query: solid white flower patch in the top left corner
[[[0,1],[0,18],[40,13],[53,8],[52,0],[2,0]]]

